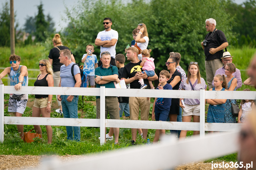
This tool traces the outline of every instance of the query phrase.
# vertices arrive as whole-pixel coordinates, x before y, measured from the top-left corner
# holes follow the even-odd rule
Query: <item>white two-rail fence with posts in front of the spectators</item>
[[[53,95],[89,95],[101,96],[101,119],[35,118],[4,116],[5,94],[53,94]],[[157,122],[108,120],[105,118],[105,96],[197,98],[200,99],[200,123],[194,122]],[[205,99],[255,99],[255,91],[189,91],[189,90],[150,90],[150,89],[113,89],[113,88],[68,88],[68,87],[33,87],[22,86],[15,91],[13,86],[0,85],[0,141],[4,141],[4,124],[33,124],[58,126],[100,127],[101,144],[104,144],[105,127],[200,130],[200,137],[205,131],[237,131],[241,124],[205,123]]]

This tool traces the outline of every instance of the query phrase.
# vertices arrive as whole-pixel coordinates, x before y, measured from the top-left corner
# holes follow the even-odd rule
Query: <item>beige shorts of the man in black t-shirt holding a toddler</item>
[[[140,108],[140,119],[148,120],[150,110],[150,98],[147,97],[129,97],[129,108],[131,120],[139,119],[139,108]]]

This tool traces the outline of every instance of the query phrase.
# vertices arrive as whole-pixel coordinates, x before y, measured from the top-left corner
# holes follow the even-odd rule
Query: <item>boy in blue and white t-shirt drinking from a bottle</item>
[[[89,87],[89,82],[90,86],[94,88],[95,86],[95,69],[98,67],[98,61],[97,61],[97,56],[93,54],[94,52],[94,46],[89,44],[86,46],[87,54],[84,54],[82,57],[82,62],[84,63],[83,70],[85,70],[88,78],[87,78],[87,87]]]

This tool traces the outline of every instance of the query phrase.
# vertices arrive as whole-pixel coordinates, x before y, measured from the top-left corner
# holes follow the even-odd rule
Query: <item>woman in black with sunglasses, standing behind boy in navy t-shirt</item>
[[[179,85],[181,83],[182,75],[176,69],[178,65],[179,58],[175,55],[169,57],[165,63],[167,69],[170,70],[170,79],[167,81],[172,86],[173,90],[179,90]],[[169,111],[169,118],[171,122],[177,122],[177,115],[179,115],[179,98],[171,99],[171,107]],[[171,131],[174,134],[177,134],[177,130]]]

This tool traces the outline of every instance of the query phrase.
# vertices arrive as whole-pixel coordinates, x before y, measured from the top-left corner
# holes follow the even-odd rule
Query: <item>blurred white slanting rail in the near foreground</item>
[[[129,149],[98,154],[82,161],[73,161],[70,163],[60,163],[51,158],[47,163],[42,164],[39,169],[173,169],[175,166],[183,163],[206,160],[238,151],[236,142],[238,132],[206,135],[204,138],[193,137],[184,141],[173,139],[172,136],[166,136],[165,140],[162,140],[157,145],[133,146],[129,147]],[[211,163],[209,163],[209,167],[211,166]]]

